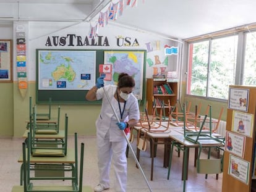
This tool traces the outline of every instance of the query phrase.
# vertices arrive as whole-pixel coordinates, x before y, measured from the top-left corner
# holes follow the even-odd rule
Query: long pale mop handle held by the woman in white
[[[113,111],[113,113],[114,113],[114,115],[115,115],[117,121],[120,123],[120,120],[119,120],[119,118],[118,118],[118,116],[117,116],[117,114],[116,114],[116,111],[114,110],[113,105],[111,104],[111,101],[110,101],[110,99],[109,99],[108,93],[106,93],[106,90],[105,90],[105,87],[104,87],[104,86],[103,86],[103,90],[104,90],[104,93],[105,93],[105,95],[106,95],[106,98],[108,99],[109,106],[111,107],[111,109],[112,109],[112,111]],[[124,138],[126,138],[126,142],[127,142],[128,146],[129,146],[129,148],[130,148],[130,151],[132,151],[132,155],[134,156],[134,160],[135,160],[136,164],[138,165],[138,167],[139,167],[139,169],[140,169],[140,172],[142,172],[142,175],[143,175],[143,177],[144,177],[144,179],[145,179],[145,182],[146,182],[147,185],[148,185],[148,188],[149,188],[150,192],[152,192],[152,189],[151,189],[151,187],[150,187],[150,185],[149,185],[149,183],[148,183],[147,177],[145,176],[145,174],[144,174],[144,172],[143,172],[143,170],[142,170],[142,167],[140,167],[140,163],[139,163],[137,157],[135,156],[134,150],[132,149],[132,146],[130,145],[130,142],[129,142],[128,138],[126,137],[126,133],[124,132],[124,130],[122,130],[122,133],[124,133]]]

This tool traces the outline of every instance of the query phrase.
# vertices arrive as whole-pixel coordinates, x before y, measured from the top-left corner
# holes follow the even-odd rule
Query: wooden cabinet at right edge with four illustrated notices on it
[[[224,150],[223,164],[223,192],[256,191],[255,97],[256,87],[229,86],[229,101],[226,118],[226,147]],[[238,108],[236,108],[236,106]],[[243,111],[241,110],[242,107],[247,107],[247,109]],[[240,124],[241,121],[242,124]],[[231,140],[230,135],[234,135],[234,140]],[[242,137],[244,137],[244,139],[242,139]],[[236,145],[238,147],[236,147]],[[232,146],[231,150],[228,146]],[[241,149],[244,152],[239,155],[238,151]]]

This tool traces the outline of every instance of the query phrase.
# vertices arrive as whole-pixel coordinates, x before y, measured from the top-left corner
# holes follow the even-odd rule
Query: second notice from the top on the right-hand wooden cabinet
[[[252,137],[254,114],[233,111],[232,131]]]

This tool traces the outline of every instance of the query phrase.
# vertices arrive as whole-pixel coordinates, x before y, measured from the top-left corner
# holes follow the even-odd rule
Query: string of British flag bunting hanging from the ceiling
[[[142,0],[144,3],[145,0]],[[137,0],[119,0],[116,3],[113,1],[109,2],[107,9],[100,11],[98,20],[95,25],[90,22],[89,37],[93,38],[98,36],[99,27],[105,27],[108,25],[108,20],[117,20],[117,17],[122,16],[124,12],[124,6],[137,7]]]

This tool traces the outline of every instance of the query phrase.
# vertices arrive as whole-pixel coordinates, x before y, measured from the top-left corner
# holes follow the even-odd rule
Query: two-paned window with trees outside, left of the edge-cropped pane
[[[189,44],[187,94],[228,99],[234,84],[238,36]]]

